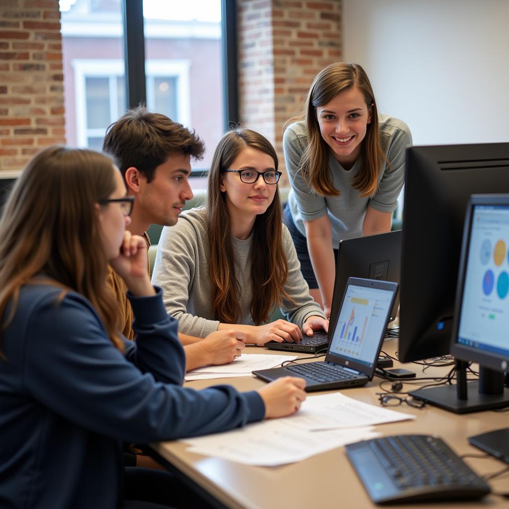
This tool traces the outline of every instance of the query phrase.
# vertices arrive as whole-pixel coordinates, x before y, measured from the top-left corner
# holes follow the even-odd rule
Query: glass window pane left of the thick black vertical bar
[[[87,147],[99,135],[89,129],[105,130],[125,111],[124,91],[103,81],[125,75],[121,0],[61,0],[60,11],[66,138]]]

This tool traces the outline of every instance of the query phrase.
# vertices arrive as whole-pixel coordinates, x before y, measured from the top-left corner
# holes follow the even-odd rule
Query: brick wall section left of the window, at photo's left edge
[[[63,143],[58,0],[0,0],[0,171]]]

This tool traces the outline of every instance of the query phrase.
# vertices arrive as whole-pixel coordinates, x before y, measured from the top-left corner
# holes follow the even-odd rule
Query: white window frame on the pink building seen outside
[[[124,61],[122,59],[73,59],[71,66],[74,71],[74,100],[76,108],[76,141],[79,147],[88,147],[88,138],[104,136],[103,129],[87,128],[86,78],[109,78],[110,88],[110,119],[115,122],[123,111],[118,111],[116,97],[116,79],[124,76]],[[191,123],[189,60],[151,59],[145,64],[148,79],[155,77],[176,78],[177,118],[172,119],[185,126]],[[115,78],[115,79],[112,79]],[[147,106],[154,107],[154,93],[147,90]]]

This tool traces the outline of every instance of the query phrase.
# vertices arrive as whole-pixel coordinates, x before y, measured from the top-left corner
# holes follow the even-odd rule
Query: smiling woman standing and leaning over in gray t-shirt
[[[411,144],[404,122],[379,115],[364,69],[344,62],[318,73],[303,118],[285,130],[286,222],[327,317],[340,240],[390,231]]]

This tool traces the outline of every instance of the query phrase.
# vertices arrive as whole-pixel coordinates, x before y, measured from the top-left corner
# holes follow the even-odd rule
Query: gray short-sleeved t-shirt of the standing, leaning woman
[[[374,196],[360,197],[359,191],[352,187],[362,161],[359,157],[347,171],[329,155],[329,168],[334,187],[341,191],[340,196],[320,196],[306,184],[300,168],[300,160],[307,147],[307,132],[303,120],[288,126],[283,136],[283,148],[288,177],[292,189],[288,204],[297,229],[306,235],[304,220],[313,221],[328,215],[332,227],[332,245],[337,248],[342,239],[362,235],[362,223],[367,206],[380,212],[392,212],[398,203],[405,174],[405,149],[412,145],[412,135],[408,126],[401,120],[379,116],[382,150],[390,161],[380,168],[378,190]]]

